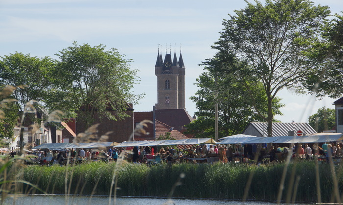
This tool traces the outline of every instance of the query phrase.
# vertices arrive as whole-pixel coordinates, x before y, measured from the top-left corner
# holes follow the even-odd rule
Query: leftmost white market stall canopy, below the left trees
[[[52,143],[52,144],[41,144],[35,146],[32,149],[80,149],[80,148],[98,148],[111,146],[113,142],[96,142],[96,143]]]

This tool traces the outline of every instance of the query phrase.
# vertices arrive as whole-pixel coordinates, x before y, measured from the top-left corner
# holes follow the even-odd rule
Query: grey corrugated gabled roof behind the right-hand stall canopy
[[[245,130],[249,126],[254,127],[261,135],[263,135],[262,133],[265,134],[264,136],[267,135],[267,123],[249,123]],[[301,130],[306,135],[317,133],[308,123],[273,123],[273,137],[288,136],[289,131],[294,131],[296,135],[298,130]]]

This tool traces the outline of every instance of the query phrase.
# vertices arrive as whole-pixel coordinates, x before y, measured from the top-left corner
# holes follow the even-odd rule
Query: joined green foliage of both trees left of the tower
[[[30,111],[38,109],[44,118],[51,113],[61,117],[61,112],[54,112],[61,110],[64,117],[77,115],[89,127],[95,111],[100,118],[122,119],[129,103],[136,104],[142,97],[131,92],[138,80],[137,71],[129,68],[131,60],[115,48],[73,42],[56,55],[57,60],[18,52],[1,57],[0,138],[13,136],[27,102],[34,102]]]

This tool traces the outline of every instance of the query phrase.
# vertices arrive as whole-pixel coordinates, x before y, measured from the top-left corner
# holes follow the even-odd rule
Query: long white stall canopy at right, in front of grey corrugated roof
[[[227,137],[216,144],[260,144],[260,143],[323,143],[342,141],[341,133],[316,133],[305,136],[281,137]]]

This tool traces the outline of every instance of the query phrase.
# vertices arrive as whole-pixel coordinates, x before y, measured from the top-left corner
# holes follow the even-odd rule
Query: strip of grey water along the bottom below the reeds
[[[68,203],[66,203],[66,200]],[[108,205],[109,198],[106,196],[70,196],[66,199],[62,195],[29,195],[23,197],[8,197],[5,205]],[[113,204],[113,198],[111,200]],[[116,199],[116,205],[273,205],[268,202],[238,202],[227,200],[207,199],[156,199],[156,198],[134,198],[121,197]],[[304,205],[304,204],[298,204]]]

